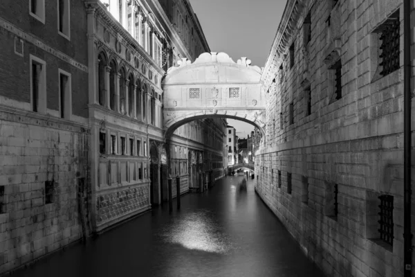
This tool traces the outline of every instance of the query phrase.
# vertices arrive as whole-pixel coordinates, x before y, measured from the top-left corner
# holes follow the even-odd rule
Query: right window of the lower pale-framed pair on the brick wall
[[[59,114],[61,118],[70,120],[72,114],[71,74],[58,70],[59,73]]]

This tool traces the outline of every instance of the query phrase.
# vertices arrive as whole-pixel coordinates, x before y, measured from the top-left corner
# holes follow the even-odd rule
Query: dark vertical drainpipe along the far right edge
[[[412,276],[411,233],[411,0],[403,1],[403,166],[404,166],[404,276]]]

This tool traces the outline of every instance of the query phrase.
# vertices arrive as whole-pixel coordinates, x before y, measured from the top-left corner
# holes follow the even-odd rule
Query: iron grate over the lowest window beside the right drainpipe
[[[394,197],[391,195],[380,195],[380,239],[388,244],[393,244],[394,241]]]

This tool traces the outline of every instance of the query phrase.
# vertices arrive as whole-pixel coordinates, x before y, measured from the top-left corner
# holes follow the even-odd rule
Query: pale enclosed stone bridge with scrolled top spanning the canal
[[[225,53],[203,53],[167,71],[163,80],[163,127],[174,130],[201,118],[233,118],[259,128],[264,137],[266,96],[261,69],[242,57],[234,62]]]

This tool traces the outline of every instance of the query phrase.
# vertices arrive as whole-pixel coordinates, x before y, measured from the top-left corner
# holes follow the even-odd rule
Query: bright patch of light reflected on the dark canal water
[[[190,213],[178,219],[168,231],[163,232],[165,241],[181,244],[187,249],[226,253],[232,247],[227,235],[219,230],[219,224],[213,222],[213,215],[206,211]]]

